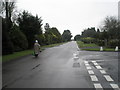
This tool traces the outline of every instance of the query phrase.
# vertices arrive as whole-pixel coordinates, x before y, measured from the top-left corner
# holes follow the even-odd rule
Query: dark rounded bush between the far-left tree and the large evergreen
[[[10,31],[10,37],[14,44],[14,51],[21,51],[28,48],[26,36],[19,30],[19,27],[14,25]]]

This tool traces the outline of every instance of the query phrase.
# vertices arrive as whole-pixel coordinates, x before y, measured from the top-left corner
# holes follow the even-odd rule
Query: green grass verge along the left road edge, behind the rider
[[[65,42],[64,42],[65,43]],[[45,48],[49,48],[49,47],[54,47],[54,46],[58,46],[64,43],[57,43],[57,44],[51,44],[51,45],[45,45],[41,47],[41,50],[43,51]],[[8,62],[14,59],[18,59],[20,57],[23,56],[27,56],[33,54],[33,50],[25,50],[25,51],[20,51],[20,52],[14,52],[13,54],[9,54],[9,55],[4,55],[2,56],[2,62]]]

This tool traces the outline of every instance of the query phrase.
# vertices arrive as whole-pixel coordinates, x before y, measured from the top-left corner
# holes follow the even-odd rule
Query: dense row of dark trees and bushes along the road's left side
[[[7,2],[2,0],[1,8],[2,55],[4,56],[31,50],[35,40],[44,47],[71,41],[70,30],[64,30],[61,34],[57,27],[51,27],[47,22],[43,23],[43,19],[37,14],[34,16],[26,10],[18,12],[16,2],[13,0]]]

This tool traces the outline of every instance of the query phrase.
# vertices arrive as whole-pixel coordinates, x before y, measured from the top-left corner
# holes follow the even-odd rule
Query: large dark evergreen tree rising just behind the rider
[[[20,30],[26,35],[28,40],[28,47],[32,48],[35,36],[42,34],[42,19],[38,16],[33,16],[27,11],[23,11],[19,14],[18,24]]]

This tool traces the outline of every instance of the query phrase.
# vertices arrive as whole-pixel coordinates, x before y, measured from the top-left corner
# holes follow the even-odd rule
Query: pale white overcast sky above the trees
[[[57,27],[73,36],[88,27],[98,27],[106,16],[118,16],[119,0],[17,0],[18,10],[27,10],[43,19],[43,26]]]

